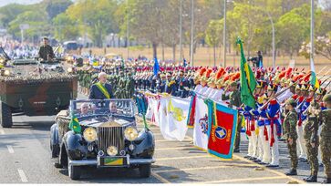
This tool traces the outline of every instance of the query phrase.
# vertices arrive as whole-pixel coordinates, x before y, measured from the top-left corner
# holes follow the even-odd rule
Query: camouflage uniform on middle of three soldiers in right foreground
[[[311,103],[310,107],[314,109],[320,109],[319,104],[314,101]],[[305,148],[307,150],[307,159],[310,165],[310,175],[317,176],[318,173],[318,146],[319,138],[317,135],[318,132],[318,120],[314,113],[308,111],[308,120],[305,120],[304,124],[304,139],[305,139]],[[315,143],[315,147],[311,145]]]

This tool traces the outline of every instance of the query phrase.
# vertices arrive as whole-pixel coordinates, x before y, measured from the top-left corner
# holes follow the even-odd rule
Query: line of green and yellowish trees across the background
[[[315,36],[331,38],[331,5],[315,1]],[[88,36],[96,47],[110,33],[157,47],[172,47],[175,57],[180,42],[191,44],[193,2],[196,47],[222,47],[224,0],[44,0],[35,5],[5,5],[0,8],[0,26],[20,38],[21,24],[28,24],[26,38],[54,36],[59,41]],[[317,3],[318,2],[318,3]],[[272,23],[277,54],[291,57],[302,53],[309,40],[310,0],[227,0],[227,43],[231,52],[237,36],[248,55],[272,50]],[[182,25],[180,26],[180,18]]]

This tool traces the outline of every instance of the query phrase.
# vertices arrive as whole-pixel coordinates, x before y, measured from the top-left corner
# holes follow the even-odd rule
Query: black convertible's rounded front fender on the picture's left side
[[[63,143],[70,160],[83,160],[88,154],[88,148],[84,145],[82,135],[76,134],[72,130],[64,135]]]

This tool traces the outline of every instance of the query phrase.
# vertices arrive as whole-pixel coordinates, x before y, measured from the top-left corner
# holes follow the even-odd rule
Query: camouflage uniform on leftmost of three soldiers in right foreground
[[[296,122],[297,122],[297,113],[296,113],[295,109],[292,109],[291,111],[287,112],[287,114],[284,118],[285,140],[292,139],[292,141],[293,141],[292,145],[290,145],[287,142],[287,148],[289,150],[289,154],[291,157],[292,170],[296,170],[297,163],[298,163],[297,155],[296,155],[296,139],[297,139]]]

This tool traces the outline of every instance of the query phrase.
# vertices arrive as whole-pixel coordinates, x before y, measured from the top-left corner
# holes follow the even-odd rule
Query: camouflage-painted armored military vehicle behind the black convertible
[[[52,116],[78,96],[78,78],[59,60],[11,59],[0,47],[0,123],[12,116]]]

